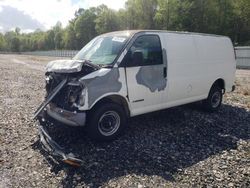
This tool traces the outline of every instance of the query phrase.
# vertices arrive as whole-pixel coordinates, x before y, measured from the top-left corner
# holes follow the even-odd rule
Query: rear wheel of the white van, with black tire
[[[222,89],[218,85],[213,85],[206,100],[202,101],[204,109],[208,112],[216,112],[222,103]]]

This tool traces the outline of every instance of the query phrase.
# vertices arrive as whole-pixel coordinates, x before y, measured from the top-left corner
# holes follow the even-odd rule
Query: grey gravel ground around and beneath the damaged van
[[[0,187],[250,187],[250,71],[237,71],[218,113],[193,104],[135,117],[111,143],[55,125],[86,163],[73,168],[43,152],[32,121],[51,59],[0,55]]]

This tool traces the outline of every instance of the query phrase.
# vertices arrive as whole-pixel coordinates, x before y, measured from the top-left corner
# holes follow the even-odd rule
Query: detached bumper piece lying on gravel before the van
[[[63,148],[59,146],[48,134],[45,126],[38,125],[38,131],[40,136],[40,142],[46,152],[52,156],[60,158],[64,163],[74,167],[80,167],[83,165],[81,159],[76,158],[73,154],[66,154]]]

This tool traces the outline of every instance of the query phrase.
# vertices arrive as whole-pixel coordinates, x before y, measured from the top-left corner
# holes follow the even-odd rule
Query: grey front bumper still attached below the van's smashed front
[[[49,104],[46,107],[47,114],[53,119],[70,126],[84,126],[86,122],[85,112],[71,112]]]

